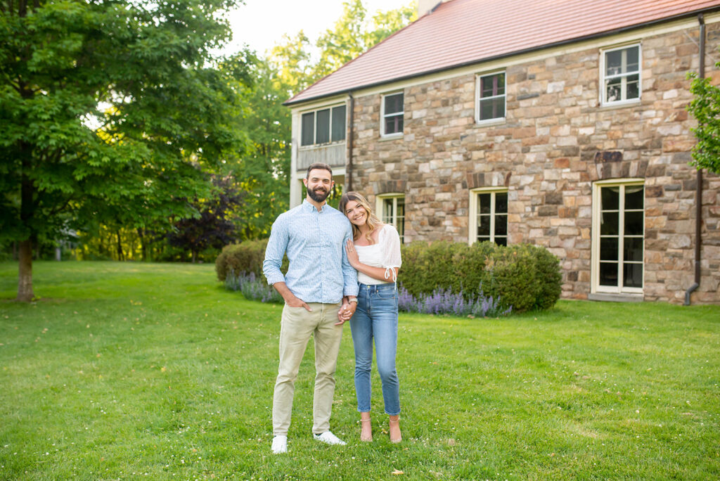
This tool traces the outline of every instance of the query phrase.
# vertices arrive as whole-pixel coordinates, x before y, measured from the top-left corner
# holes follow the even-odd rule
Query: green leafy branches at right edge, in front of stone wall
[[[720,63],[716,63],[720,67]],[[720,87],[710,83],[710,78],[698,78],[695,73],[690,92],[694,98],[688,111],[698,120],[695,132],[698,143],[693,148],[692,165],[720,174]]]

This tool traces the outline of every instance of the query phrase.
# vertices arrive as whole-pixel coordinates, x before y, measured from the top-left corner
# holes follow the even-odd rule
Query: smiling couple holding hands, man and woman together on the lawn
[[[325,163],[307,168],[307,197],[272,225],[263,272],[285,300],[280,324],[280,364],[273,397],[274,454],[287,452],[294,381],[310,336],[315,338],[315,396],[312,433],[327,444],[345,442],[330,432],[335,369],[343,324],[350,320],[355,348],[355,390],[361,441],[372,441],[370,368],[372,341],[382,379],[390,441],[400,442],[397,350],[397,270],[400,237],[372,215],[356,192],[343,194],[339,212],[325,203],[333,171]],[[349,220],[349,222],[348,222]],[[287,274],[280,265],[290,261]]]

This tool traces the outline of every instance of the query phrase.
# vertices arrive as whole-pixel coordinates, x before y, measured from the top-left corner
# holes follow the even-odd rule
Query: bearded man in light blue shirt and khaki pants
[[[277,217],[263,262],[268,284],[285,300],[273,395],[274,454],[287,452],[294,381],[310,336],[315,339],[316,372],[312,433],[318,441],[345,444],[330,432],[330,410],[344,319],[357,307],[357,272],[345,251],[352,230],[347,217],[325,203],[333,188],[330,166],[313,163],[302,182],[307,188],[305,201]],[[290,264],[283,276],[280,265],[285,253]]]

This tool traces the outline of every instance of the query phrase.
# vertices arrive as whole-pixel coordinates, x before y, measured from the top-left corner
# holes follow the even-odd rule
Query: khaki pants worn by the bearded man
[[[287,436],[292,413],[292,397],[300,361],[305,354],[310,336],[315,338],[315,397],[312,402],[312,432],[330,430],[330,411],[335,394],[335,369],[343,335],[338,322],[341,303],[321,304],[308,302],[312,312],[305,307],[289,307],[282,310],[280,324],[280,365],[275,381],[272,406],[273,434]]]

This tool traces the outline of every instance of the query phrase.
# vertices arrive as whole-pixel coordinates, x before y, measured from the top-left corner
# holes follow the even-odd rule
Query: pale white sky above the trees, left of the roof
[[[410,0],[363,0],[371,17],[377,10],[385,12],[408,4]],[[234,53],[246,43],[263,55],[282,42],[283,34],[294,37],[300,30],[315,42],[342,13],[342,0],[245,0],[245,5],[228,15],[233,41],[225,53]]]

